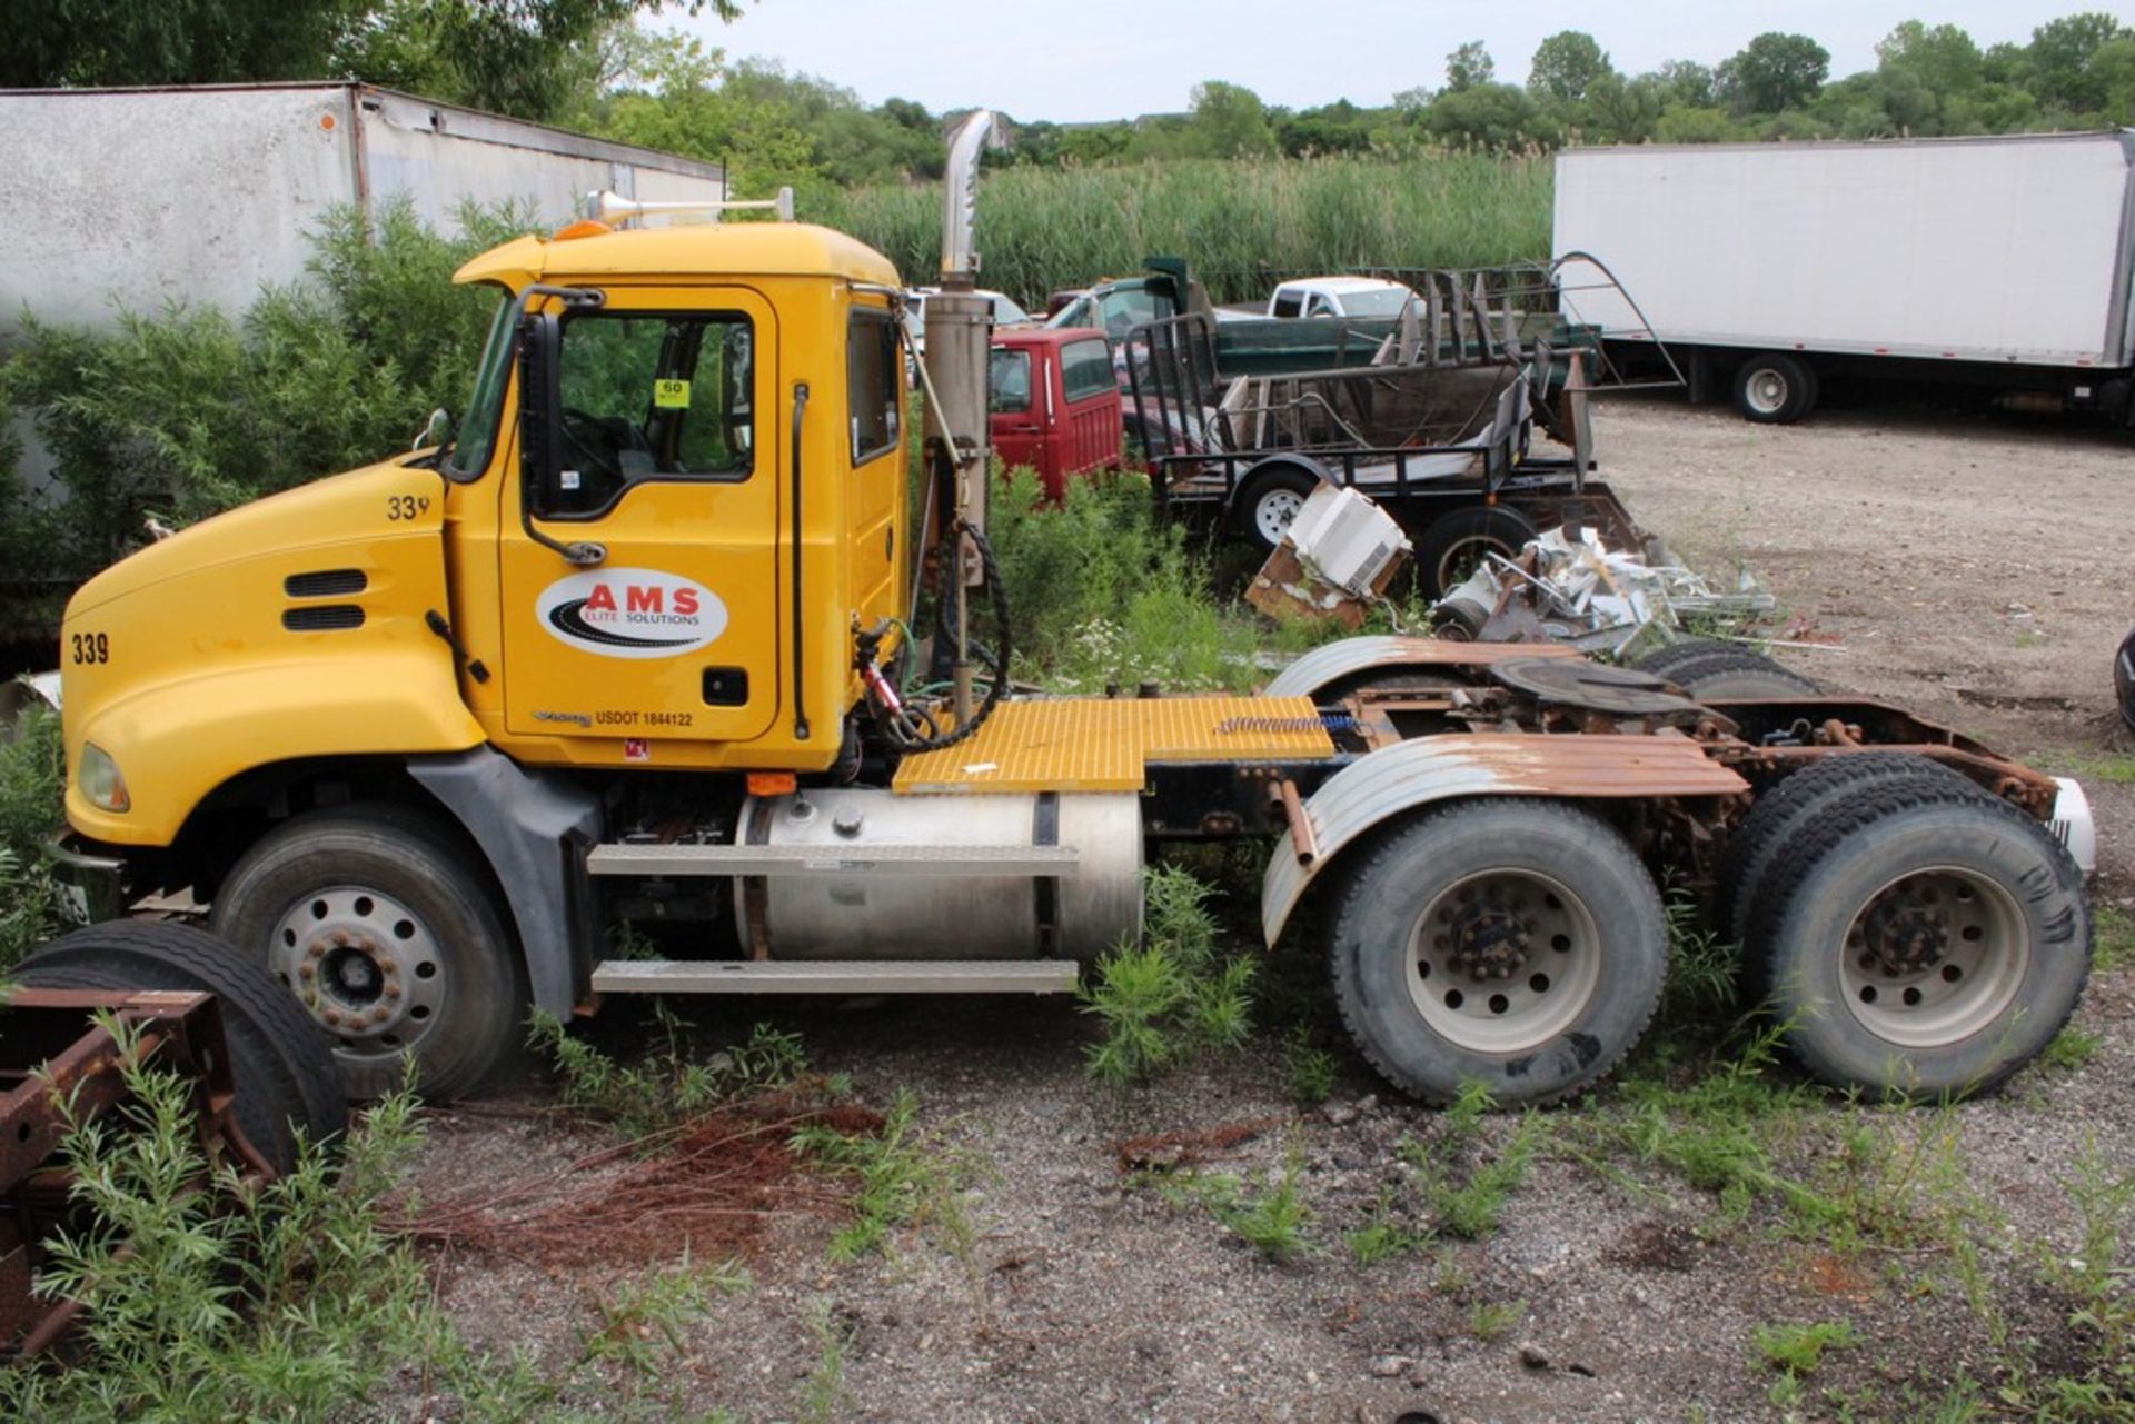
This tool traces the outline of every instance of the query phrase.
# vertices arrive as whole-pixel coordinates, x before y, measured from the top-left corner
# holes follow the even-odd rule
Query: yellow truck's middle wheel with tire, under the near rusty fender
[[[1328,967],[1388,1082],[1439,1104],[1469,1082],[1501,1106],[1546,1104],[1599,1082],[1646,1031],[1667,918],[1644,863],[1593,811],[1465,801],[1347,867]]]

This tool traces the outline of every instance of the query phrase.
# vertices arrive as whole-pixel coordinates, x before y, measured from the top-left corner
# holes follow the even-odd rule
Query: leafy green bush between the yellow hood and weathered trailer
[[[15,576],[77,583],[179,523],[404,450],[465,399],[493,290],[455,288],[474,252],[521,231],[512,209],[461,211],[440,237],[408,201],[331,211],[305,286],[267,288],[235,320],[167,305],[109,333],[23,322],[0,376],[56,461],[64,497],[0,489],[0,549],[41,551]],[[11,470],[19,450],[0,450]],[[6,611],[19,621],[19,611]]]

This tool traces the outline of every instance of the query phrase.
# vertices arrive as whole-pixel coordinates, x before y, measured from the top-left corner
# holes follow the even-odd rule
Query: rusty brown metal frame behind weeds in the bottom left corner
[[[98,1010],[139,1033],[132,1059]],[[70,1123],[102,1119],[130,1102],[128,1061],[152,1063],[192,1085],[199,1146],[248,1183],[275,1176],[231,1112],[228,1042],[213,995],[96,988],[17,988],[0,1008],[0,1362],[49,1349],[81,1311],[77,1300],[32,1294],[43,1243],[79,1225],[73,1178],[53,1161]],[[135,1033],[128,1033],[135,1038]]]

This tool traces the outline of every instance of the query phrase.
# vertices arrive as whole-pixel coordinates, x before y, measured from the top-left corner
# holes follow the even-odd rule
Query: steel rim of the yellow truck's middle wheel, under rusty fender
[[[1586,903],[1550,875],[1477,871],[1439,890],[1416,918],[1407,982],[1416,1012],[1454,1046],[1533,1053],[1593,1001],[1601,931]]]

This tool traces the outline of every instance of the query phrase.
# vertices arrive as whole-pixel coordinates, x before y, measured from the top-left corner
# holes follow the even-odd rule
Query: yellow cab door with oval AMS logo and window
[[[779,711],[777,322],[749,288],[611,288],[521,374],[504,480],[515,734],[745,741]],[[574,551],[576,559],[564,549]]]

